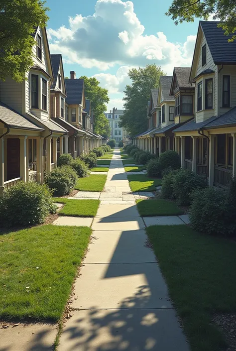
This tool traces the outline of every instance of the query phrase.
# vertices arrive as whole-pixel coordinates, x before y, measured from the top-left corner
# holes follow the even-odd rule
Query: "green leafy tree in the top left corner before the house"
[[[48,20],[44,4],[43,0],[0,0],[0,80],[25,79],[33,65],[32,34]]]

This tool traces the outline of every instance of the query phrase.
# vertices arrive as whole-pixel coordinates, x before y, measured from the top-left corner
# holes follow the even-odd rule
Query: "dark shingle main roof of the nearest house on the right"
[[[200,21],[215,64],[236,62],[236,42],[228,42],[234,34],[225,35],[218,21]]]

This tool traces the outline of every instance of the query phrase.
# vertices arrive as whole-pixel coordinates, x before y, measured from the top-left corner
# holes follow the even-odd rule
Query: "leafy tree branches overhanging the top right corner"
[[[194,22],[195,17],[208,20],[209,16],[218,19],[219,27],[226,35],[236,31],[236,1],[235,0],[173,0],[167,16],[175,21],[175,24]],[[231,36],[229,41],[234,41],[236,35]]]

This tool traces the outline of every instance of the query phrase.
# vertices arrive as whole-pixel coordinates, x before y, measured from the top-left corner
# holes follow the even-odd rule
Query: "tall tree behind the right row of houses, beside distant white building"
[[[151,89],[159,87],[160,76],[165,73],[155,64],[144,68],[132,68],[128,72],[131,85],[124,90],[124,114],[120,118],[130,136],[147,130],[147,102],[150,99]]]

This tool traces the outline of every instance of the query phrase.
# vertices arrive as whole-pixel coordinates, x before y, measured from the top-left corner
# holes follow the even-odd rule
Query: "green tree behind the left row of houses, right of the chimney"
[[[90,100],[91,110],[94,112],[94,131],[97,134],[108,137],[110,135],[109,120],[104,115],[109,103],[108,90],[99,86],[100,82],[95,78],[86,76],[84,79],[85,97]]]

